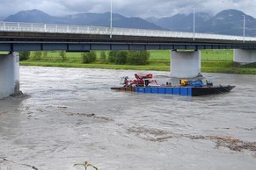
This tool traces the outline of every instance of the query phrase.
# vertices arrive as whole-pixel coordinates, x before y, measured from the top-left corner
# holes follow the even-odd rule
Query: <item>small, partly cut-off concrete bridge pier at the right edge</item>
[[[234,50],[234,59],[238,63],[252,63],[256,62],[256,50]]]

